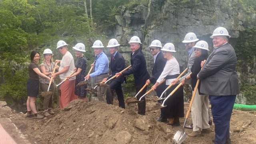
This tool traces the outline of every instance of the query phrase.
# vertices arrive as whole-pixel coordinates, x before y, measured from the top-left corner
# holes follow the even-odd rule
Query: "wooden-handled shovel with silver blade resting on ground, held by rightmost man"
[[[204,60],[204,62],[205,61],[206,60]],[[201,70],[202,70],[202,68],[201,68]],[[185,138],[188,136],[188,134],[185,133],[184,129],[185,129],[186,122],[188,120],[188,114],[190,112],[191,106],[193,104],[194,97],[196,95],[196,90],[198,88],[199,81],[200,80],[197,80],[197,82],[196,82],[196,86],[194,88],[194,93],[192,95],[192,98],[191,98],[191,101],[190,101],[190,104],[189,104],[189,107],[188,107],[188,112],[186,114],[186,118],[184,120],[184,124],[183,124],[183,127],[182,127],[182,132],[180,130],[178,130],[178,132],[176,132],[176,134],[173,137],[173,139],[177,142],[177,144],[181,144],[185,140]]]

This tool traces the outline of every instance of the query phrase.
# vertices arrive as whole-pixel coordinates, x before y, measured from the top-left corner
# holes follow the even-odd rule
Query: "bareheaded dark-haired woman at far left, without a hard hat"
[[[40,54],[37,51],[32,51],[30,54],[30,64],[28,65],[28,82],[26,84],[27,92],[28,92],[28,100],[27,100],[27,117],[34,116],[36,119],[42,119],[43,116],[40,116],[36,112],[36,96],[39,94],[39,76],[42,76],[48,80],[50,78],[45,74],[41,73],[39,70],[39,66],[37,64],[40,59]],[[34,114],[32,113],[34,112]]]

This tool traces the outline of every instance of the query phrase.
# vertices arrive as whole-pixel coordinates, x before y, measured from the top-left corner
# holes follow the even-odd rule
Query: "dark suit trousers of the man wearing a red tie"
[[[106,92],[107,104],[113,104],[113,99],[114,99],[114,92],[113,91],[114,90],[116,90],[116,95],[117,95],[117,99],[118,99],[118,102],[119,102],[119,107],[125,109],[122,83],[117,82],[115,80],[112,80],[109,84],[109,87],[107,88],[107,92]]]

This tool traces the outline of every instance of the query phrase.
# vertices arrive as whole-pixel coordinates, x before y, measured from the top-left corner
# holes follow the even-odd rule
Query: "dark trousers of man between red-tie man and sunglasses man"
[[[135,84],[136,94],[140,91],[140,89],[141,89],[144,85],[145,85],[145,84]],[[138,94],[137,100],[139,100],[140,97],[142,97],[142,96],[146,93],[147,87],[148,87],[148,86],[146,86],[146,87],[142,90],[142,92],[140,92],[140,94]],[[145,112],[146,112],[146,99],[145,99],[145,96],[144,96],[144,98],[142,98],[141,100],[143,100],[143,102],[138,103],[138,114],[145,115]]]

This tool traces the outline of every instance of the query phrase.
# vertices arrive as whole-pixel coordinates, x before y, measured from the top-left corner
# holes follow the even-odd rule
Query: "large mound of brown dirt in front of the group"
[[[147,102],[147,107],[155,103]],[[73,100],[56,116],[38,120],[33,135],[48,144],[170,143],[175,134],[172,126],[157,122],[156,112],[141,116],[137,110],[136,104],[122,109],[106,102]]]

